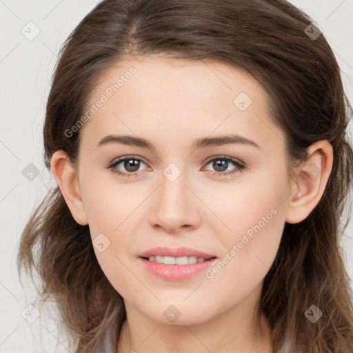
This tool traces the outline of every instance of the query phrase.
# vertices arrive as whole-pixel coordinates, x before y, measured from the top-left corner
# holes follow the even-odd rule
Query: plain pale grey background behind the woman
[[[30,212],[47,189],[56,185],[42,161],[42,128],[57,53],[68,34],[98,2],[0,0],[0,352],[68,352],[67,341],[64,336],[58,336],[54,320],[44,308],[40,308],[39,318],[30,322],[39,314],[28,307],[34,303],[35,291],[29,281],[24,282],[26,292],[21,288],[16,254]],[[343,71],[347,95],[353,102],[353,1],[296,0],[292,3],[310,14],[323,28]],[[30,21],[34,25],[28,25]],[[36,30],[40,30],[37,37],[29,40]],[[351,142],[352,137],[351,124]],[[25,169],[33,169],[28,167],[30,163],[39,174],[36,177],[34,173],[32,181],[28,180]],[[352,234],[351,221],[342,241],[351,277]],[[352,281],[350,283],[352,285]],[[57,317],[54,311],[51,314]]]

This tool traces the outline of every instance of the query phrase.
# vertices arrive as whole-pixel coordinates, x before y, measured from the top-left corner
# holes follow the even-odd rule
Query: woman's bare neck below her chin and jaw
[[[245,299],[213,319],[196,325],[159,323],[125,302],[117,353],[273,353],[270,326]]]

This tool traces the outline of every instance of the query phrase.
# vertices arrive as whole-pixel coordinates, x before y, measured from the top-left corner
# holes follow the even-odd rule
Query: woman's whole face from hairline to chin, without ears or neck
[[[90,109],[79,189],[94,252],[125,303],[194,324],[259,294],[290,195],[285,136],[261,85],[219,62],[146,57],[105,72]]]

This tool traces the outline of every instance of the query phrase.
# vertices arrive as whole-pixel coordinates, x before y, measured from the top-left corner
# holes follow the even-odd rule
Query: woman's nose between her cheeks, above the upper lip
[[[201,221],[199,207],[202,204],[197,192],[192,190],[182,172],[172,181],[161,175],[161,185],[155,191],[150,212],[150,224],[168,233],[185,232],[196,228]]]

